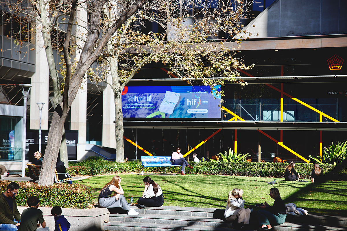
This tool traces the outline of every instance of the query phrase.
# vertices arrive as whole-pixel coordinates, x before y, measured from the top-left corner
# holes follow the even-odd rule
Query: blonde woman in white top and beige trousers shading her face
[[[251,210],[249,208],[244,208],[245,201],[242,199],[242,194],[243,190],[238,188],[234,188],[229,192],[224,217],[227,221],[237,221],[237,224],[233,225],[232,228],[244,230],[244,224],[249,224]]]

